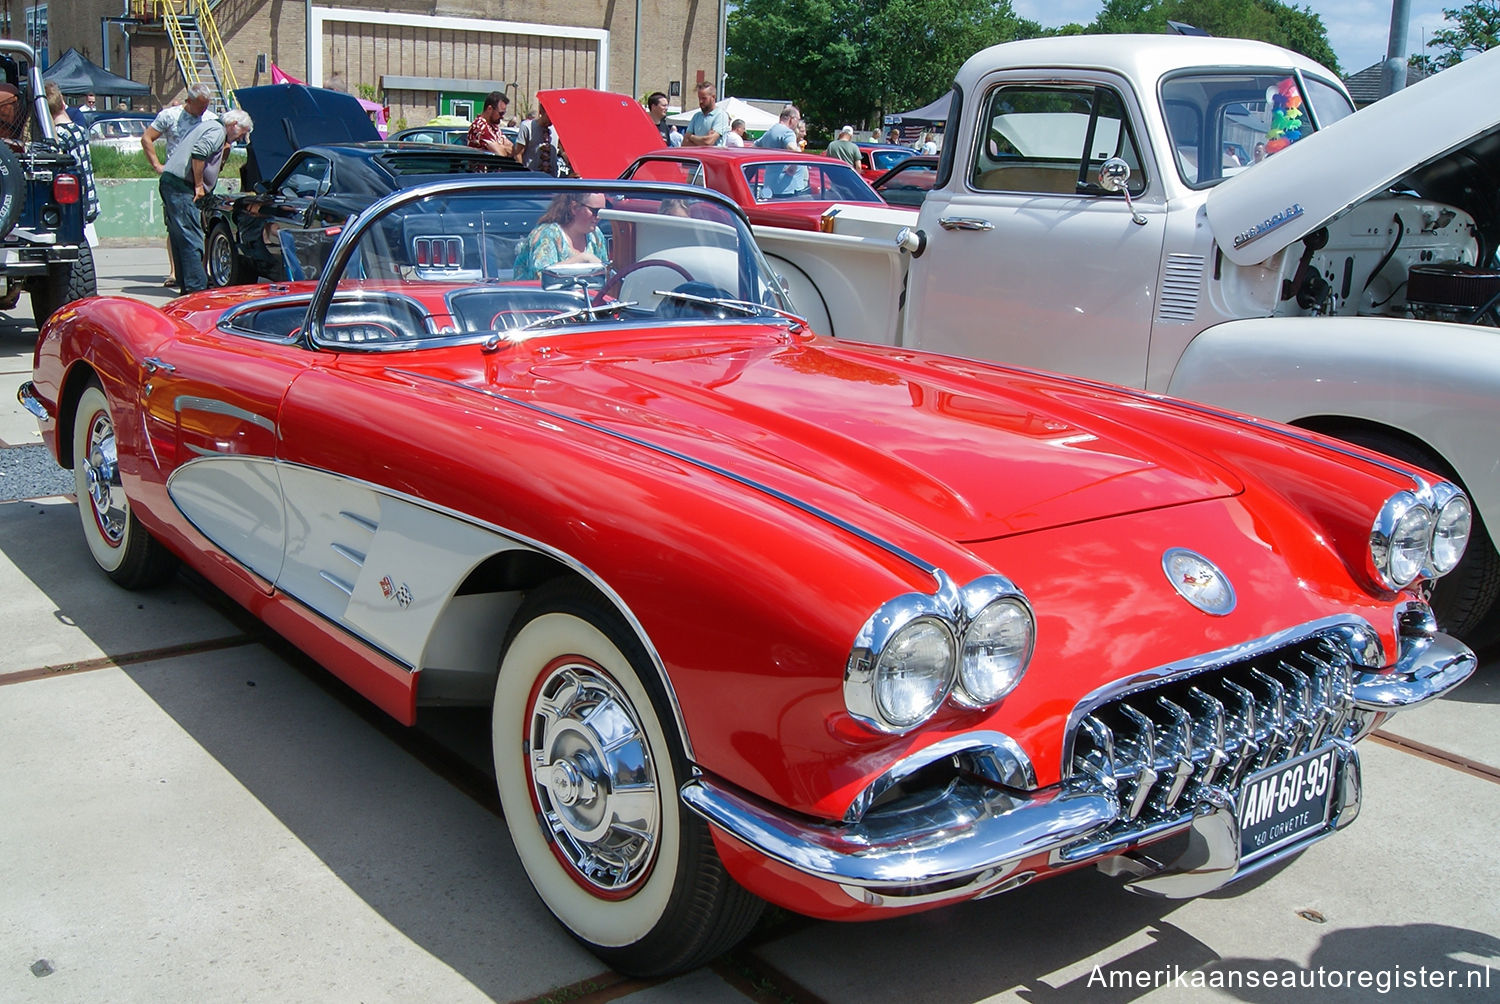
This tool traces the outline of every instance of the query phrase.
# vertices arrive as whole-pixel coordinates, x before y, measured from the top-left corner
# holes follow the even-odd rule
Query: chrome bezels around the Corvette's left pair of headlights
[[[855,636],[855,644],[844,666],[844,708],[855,720],[878,732],[891,735],[910,732],[927,722],[950,701],[964,708],[990,707],[1016,689],[1016,684],[1026,674],[1026,666],[1030,663],[1036,638],[1035,615],[1024,594],[1010,579],[1000,575],[986,575],[960,588],[942,572],[938,573],[938,578],[939,587],[936,593],[906,593],[882,603]],[[1014,680],[1002,692],[993,696],[972,695],[958,687],[962,644],[974,620],[1000,602],[1014,603],[1024,611],[1029,626],[1024,659],[1020,669],[1014,674]],[[924,714],[912,719],[897,719],[891,714],[891,702],[882,696],[882,689],[890,686],[886,677],[888,668],[884,657],[903,636],[903,632],[914,630],[926,623],[940,624],[950,639],[944,686],[940,687],[940,693],[934,689],[936,699],[932,701]],[[981,699],[986,696],[988,699]]]

